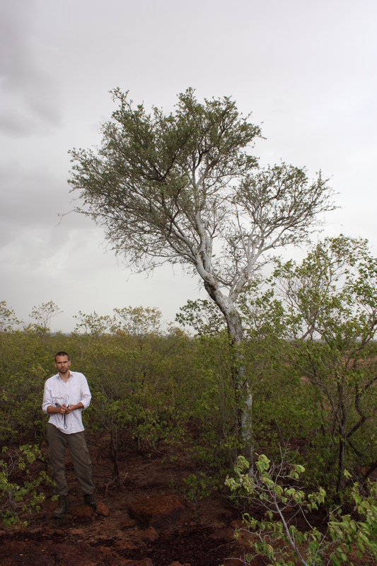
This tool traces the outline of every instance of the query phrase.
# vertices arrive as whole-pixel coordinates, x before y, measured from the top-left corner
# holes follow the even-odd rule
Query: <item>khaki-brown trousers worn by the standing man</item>
[[[56,483],[55,495],[68,495],[64,464],[67,448],[74,463],[74,470],[83,495],[91,495],[95,491],[95,486],[92,481],[92,463],[84,432],[64,434],[57,427],[54,427],[54,424],[48,422],[47,435],[51,476]]]

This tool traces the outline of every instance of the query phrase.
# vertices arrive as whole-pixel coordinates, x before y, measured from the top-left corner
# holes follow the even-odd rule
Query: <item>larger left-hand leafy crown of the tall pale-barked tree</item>
[[[245,147],[260,128],[239,114],[231,98],[202,104],[192,88],[178,96],[176,111],[168,115],[156,107],[149,114],[142,104],[135,108],[127,95],[113,92],[119,108],[103,127],[100,149],[71,151],[70,183],[93,218],[106,225],[115,249],[127,250],[131,264],[150,268],[146,256],[152,265],[159,258],[193,263],[195,212],[210,221],[209,210],[212,204],[217,209],[217,193],[227,180],[256,166]]]

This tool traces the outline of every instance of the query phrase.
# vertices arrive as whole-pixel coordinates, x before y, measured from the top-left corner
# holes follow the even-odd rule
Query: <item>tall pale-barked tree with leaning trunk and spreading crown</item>
[[[266,253],[306,241],[318,214],[332,209],[325,180],[284,163],[258,168],[248,149],[260,127],[231,98],[199,103],[189,88],[175,112],[148,114],[127,93],[112,94],[119,108],[101,146],[71,151],[77,210],[105,227],[135,269],[170,262],[197,273],[240,344],[238,294]],[[247,400],[242,371],[238,387]]]

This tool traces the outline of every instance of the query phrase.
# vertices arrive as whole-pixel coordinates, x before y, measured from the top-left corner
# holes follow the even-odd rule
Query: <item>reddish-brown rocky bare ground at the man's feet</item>
[[[192,502],[184,478],[199,473],[177,449],[137,450],[132,440],[120,453],[120,483],[111,480],[105,439],[88,437],[97,512],[83,504],[69,456],[69,513],[53,519],[52,492],[22,529],[0,531],[1,566],[240,566],[250,535],[236,536],[241,512],[224,492]],[[195,495],[195,494],[194,494]],[[316,516],[320,524],[324,516]],[[249,564],[249,562],[247,562]],[[354,562],[354,565],[365,562]],[[258,558],[252,565],[267,564]]]

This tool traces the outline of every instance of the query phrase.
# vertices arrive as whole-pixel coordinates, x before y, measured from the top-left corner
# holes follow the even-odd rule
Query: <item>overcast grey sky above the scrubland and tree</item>
[[[0,301],[28,320],[33,306],[79,312],[157,306],[173,320],[198,279],[163,267],[132,275],[103,231],[72,208],[69,156],[100,141],[110,89],[173,110],[232,96],[282,158],[331,176],[341,207],[326,235],[368,238],[377,255],[376,0],[0,0]],[[30,320],[30,319],[29,319]]]

